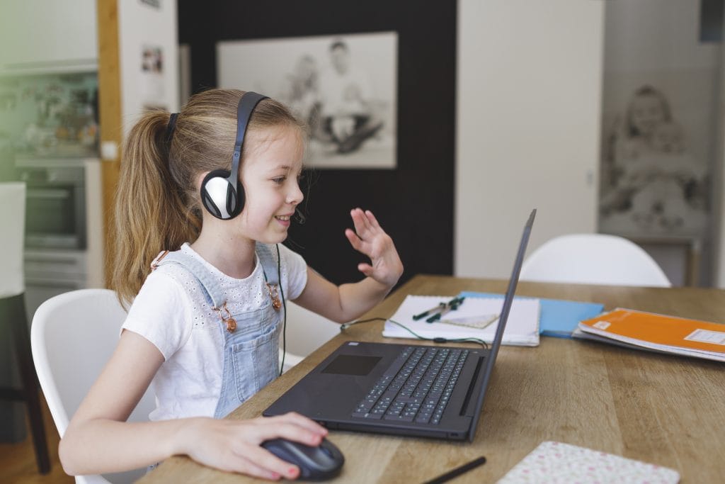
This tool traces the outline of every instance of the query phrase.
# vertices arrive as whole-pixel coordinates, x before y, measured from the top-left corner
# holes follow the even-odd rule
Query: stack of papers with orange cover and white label
[[[573,337],[725,361],[725,324],[615,309],[579,323]]]

